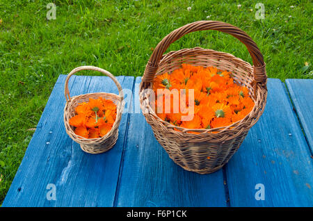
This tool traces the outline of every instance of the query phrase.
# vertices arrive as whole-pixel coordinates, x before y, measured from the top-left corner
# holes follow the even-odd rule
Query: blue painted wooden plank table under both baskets
[[[313,80],[268,79],[264,114],[222,170],[200,175],[172,162],[125,106],[118,142],[86,154],[63,124],[65,75],[54,86],[3,206],[313,206]],[[138,94],[141,78],[118,76]],[[73,76],[71,95],[114,92],[103,76]],[[131,96],[125,97],[131,100]]]

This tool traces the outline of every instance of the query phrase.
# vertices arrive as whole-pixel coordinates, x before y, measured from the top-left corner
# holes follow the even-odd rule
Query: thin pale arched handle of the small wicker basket
[[[68,81],[70,80],[70,77],[82,70],[91,70],[91,71],[97,71],[97,72],[102,72],[102,74],[109,76],[110,79],[112,79],[112,81],[114,81],[116,87],[118,87],[118,92],[119,92],[119,96],[121,101],[124,99],[124,95],[122,92],[122,86],[120,85],[120,83],[118,82],[117,79],[115,79],[115,77],[113,76],[113,74],[111,74],[110,72],[106,71],[105,69],[99,68],[99,67],[94,67],[94,66],[81,66],[81,67],[76,67],[75,69],[72,70],[72,72],[70,72],[70,74],[67,75],[67,78],[65,80],[65,99],[66,101],[70,101],[71,97],[70,97],[70,91],[68,90]],[[122,103],[122,102],[121,102]]]

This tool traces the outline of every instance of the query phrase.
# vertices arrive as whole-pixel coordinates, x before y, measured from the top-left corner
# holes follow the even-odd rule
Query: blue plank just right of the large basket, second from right
[[[230,206],[313,206],[310,155],[283,83],[268,79],[264,114],[226,165]]]

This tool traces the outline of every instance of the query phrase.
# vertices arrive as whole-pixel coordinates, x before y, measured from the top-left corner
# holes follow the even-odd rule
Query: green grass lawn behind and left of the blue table
[[[264,20],[255,19],[253,1],[220,0],[54,1],[56,19],[47,20],[49,2],[0,0],[0,204],[58,75],[74,67],[141,76],[151,48],[165,35],[211,15],[257,42],[269,77],[313,79],[310,0],[261,1]],[[241,42],[217,31],[186,35],[168,51],[197,46],[252,62]]]

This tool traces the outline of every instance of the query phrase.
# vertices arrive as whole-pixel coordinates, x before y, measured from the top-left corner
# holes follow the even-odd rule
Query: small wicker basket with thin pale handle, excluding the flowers
[[[118,87],[119,95],[106,92],[97,92],[70,97],[70,92],[68,90],[68,81],[72,74],[75,74],[81,70],[93,70],[97,72],[102,72],[102,74],[109,76]],[[75,115],[75,108],[78,106],[79,103],[89,101],[89,98],[97,99],[98,97],[110,99],[117,106],[116,119],[111,131],[106,133],[106,135],[102,138],[86,139],[78,136],[76,133],[74,133],[74,127],[71,126],[69,123],[70,118]],[[81,145],[81,149],[89,154],[100,154],[111,149],[115,145],[116,140],[118,140],[118,126],[120,125],[122,111],[124,108],[124,95],[122,92],[122,87],[120,83],[118,83],[118,80],[115,79],[113,74],[104,69],[93,66],[81,66],[73,69],[72,72],[68,74],[65,80],[65,99],[66,104],[64,108],[64,124],[68,136],[70,136],[70,138],[72,138],[75,142],[79,143]]]

